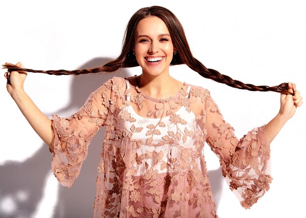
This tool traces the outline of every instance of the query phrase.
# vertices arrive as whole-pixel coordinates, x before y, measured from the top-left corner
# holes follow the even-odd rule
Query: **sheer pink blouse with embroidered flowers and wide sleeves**
[[[269,189],[265,127],[238,140],[208,90],[184,83],[154,99],[130,78],[112,78],[69,118],[53,115],[52,170],[71,187],[90,140],[106,127],[98,166],[95,218],[217,218],[202,154],[204,142],[244,208]]]

